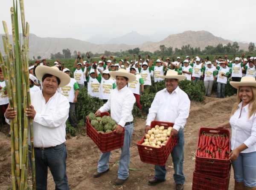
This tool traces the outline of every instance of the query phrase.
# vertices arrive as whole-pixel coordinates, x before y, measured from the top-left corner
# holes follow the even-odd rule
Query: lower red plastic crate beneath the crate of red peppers
[[[230,172],[226,178],[218,178],[201,173],[193,173],[192,190],[228,190]]]

